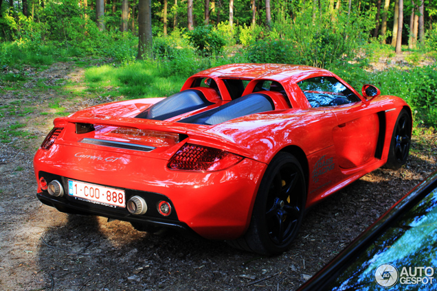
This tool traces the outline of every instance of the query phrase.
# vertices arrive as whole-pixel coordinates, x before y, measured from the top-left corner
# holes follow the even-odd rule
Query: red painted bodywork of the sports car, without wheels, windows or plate
[[[304,91],[299,84],[304,80],[326,82],[323,80],[328,77],[338,80],[359,99],[348,104],[312,107],[305,94],[324,93]],[[235,88],[229,84],[240,82],[247,83],[243,93],[232,93]],[[266,82],[271,84],[269,89],[262,88]],[[278,86],[282,87],[278,90]],[[396,150],[392,143],[402,110],[408,115],[406,122],[410,127],[406,132],[411,135],[411,112],[403,100],[379,95],[379,91],[374,97],[363,97],[324,69],[275,64],[225,65],[188,78],[181,89],[184,91],[196,94],[200,91],[208,106],[181,114],[170,112],[161,120],[139,118],[163,100],[150,98],[102,104],[56,118],[54,126],[58,132],[47,136],[34,157],[38,198],[60,211],[187,229],[208,239],[236,240],[245,235],[251,224],[262,177],[278,153],[287,152],[299,161],[306,188],[305,205],[311,207],[388,161],[390,146],[392,151]],[[247,107],[251,96],[258,98],[258,93],[267,96],[273,110],[242,113],[243,116],[234,113]],[[335,93],[330,94],[335,97]],[[225,104],[236,103],[235,100],[247,95],[244,106],[233,105],[236,109],[229,106],[234,109],[230,117],[225,117],[228,120],[215,124],[199,121],[210,118],[210,110],[224,108]],[[196,119],[197,116],[203,119]],[[231,118],[234,116],[237,117]],[[185,122],[193,118],[194,122]],[[404,135],[404,140],[410,135]],[[47,147],[47,142],[52,144]],[[210,170],[187,170],[185,165],[170,168],[172,157],[186,145],[224,151],[230,157]],[[71,179],[123,189],[122,204],[130,196],[142,196],[148,212],[153,213],[135,215],[124,206],[104,205],[67,194],[52,196],[46,186],[54,179],[63,180],[64,188],[69,187],[67,180]],[[169,216],[154,210],[159,200],[168,202]]]

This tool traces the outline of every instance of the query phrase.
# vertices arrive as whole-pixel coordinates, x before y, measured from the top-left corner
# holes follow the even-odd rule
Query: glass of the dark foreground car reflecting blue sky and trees
[[[398,282],[390,290],[416,290],[418,286],[410,284],[418,278],[424,290],[437,290],[433,276],[437,266],[436,226],[437,189],[434,189],[368,247],[328,290],[377,290],[375,275],[383,264],[397,268],[397,274],[396,271],[385,274],[387,280],[393,278]]]

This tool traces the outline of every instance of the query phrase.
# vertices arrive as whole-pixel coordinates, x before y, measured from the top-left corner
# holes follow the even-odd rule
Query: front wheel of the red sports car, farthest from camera
[[[394,125],[387,163],[388,169],[399,169],[407,162],[411,145],[412,122],[407,110],[402,109]]]

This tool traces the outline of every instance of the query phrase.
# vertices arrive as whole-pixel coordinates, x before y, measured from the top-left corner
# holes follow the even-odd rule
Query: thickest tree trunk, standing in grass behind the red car
[[[138,56],[137,60],[152,58],[152,1],[138,1]]]

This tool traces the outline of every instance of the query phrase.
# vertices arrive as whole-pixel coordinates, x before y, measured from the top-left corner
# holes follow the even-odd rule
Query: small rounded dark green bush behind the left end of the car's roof
[[[212,29],[212,26],[198,26],[187,33],[188,39],[203,56],[219,54],[225,46],[225,38]]]

